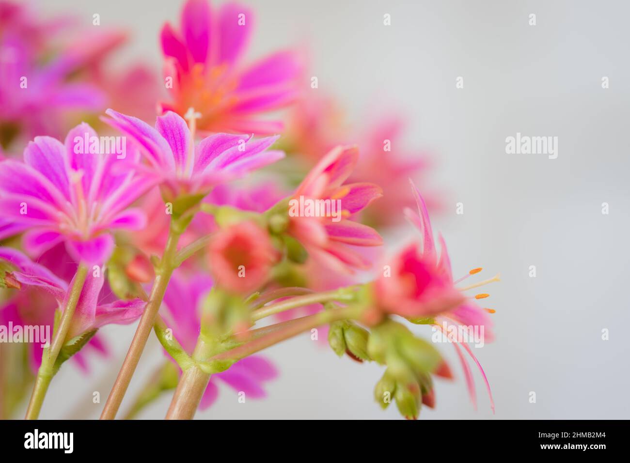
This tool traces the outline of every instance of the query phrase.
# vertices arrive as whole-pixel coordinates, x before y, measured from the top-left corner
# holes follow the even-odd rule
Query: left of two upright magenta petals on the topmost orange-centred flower
[[[210,5],[206,0],[186,2],[181,13],[181,31],[193,60],[205,62],[210,42]]]

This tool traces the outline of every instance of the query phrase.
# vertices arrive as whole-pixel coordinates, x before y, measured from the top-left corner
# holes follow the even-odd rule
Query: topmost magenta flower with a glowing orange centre
[[[271,134],[282,123],[256,118],[288,105],[297,93],[301,66],[293,52],[283,51],[243,67],[254,14],[246,6],[226,3],[211,9],[205,0],[188,0],[180,30],[168,23],[161,33],[166,77],[173,80],[172,103],[164,111],[201,113],[200,130]]]

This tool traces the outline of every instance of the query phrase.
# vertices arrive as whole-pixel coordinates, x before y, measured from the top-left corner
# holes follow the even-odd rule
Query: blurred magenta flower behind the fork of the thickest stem
[[[212,280],[205,275],[183,278],[176,272],[171,278],[166,294],[162,314],[173,335],[181,346],[192,354],[200,332],[200,302],[212,288]],[[263,357],[253,355],[234,363],[229,370],[210,377],[199,408],[208,408],[219,395],[217,383],[222,381],[236,392],[243,391],[247,397],[260,399],[266,396],[264,383],[275,379],[278,373],[272,363]]]

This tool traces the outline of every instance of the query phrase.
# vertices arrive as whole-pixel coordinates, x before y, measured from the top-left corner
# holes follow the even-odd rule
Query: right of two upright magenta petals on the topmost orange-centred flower
[[[239,14],[244,14],[244,25],[239,25]],[[243,54],[251,30],[254,14],[251,9],[236,3],[224,3],[219,9],[219,64],[233,63]]]

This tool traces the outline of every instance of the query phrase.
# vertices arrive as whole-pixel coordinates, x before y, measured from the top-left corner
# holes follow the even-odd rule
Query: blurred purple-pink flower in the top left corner
[[[71,18],[42,21],[33,8],[0,2],[0,144],[8,146],[18,135],[59,137],[72,111],[105,107],[105,93],[81,71],[125,35],[68,26],[74,26]],[[79,34],[80,41],[73,37]]]

